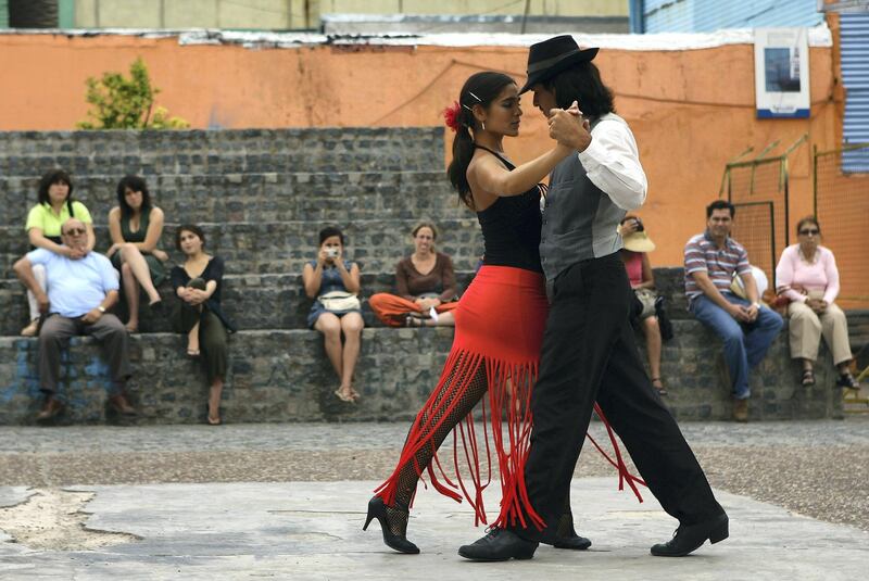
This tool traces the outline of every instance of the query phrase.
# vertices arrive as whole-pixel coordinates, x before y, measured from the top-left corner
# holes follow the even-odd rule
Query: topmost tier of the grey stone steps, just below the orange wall
[[[156,135],[154,135],[156,134]],[[428,169],[444,166],[443,129],[0,132],[0,175]]]

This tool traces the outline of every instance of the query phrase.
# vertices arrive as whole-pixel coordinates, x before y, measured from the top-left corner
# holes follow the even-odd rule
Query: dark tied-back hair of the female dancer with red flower
[[[465,81],[462,92],[458,93],[453,161],[446,168],[446,175],[458,192],[458,199],[470,209],[474,209],[474,198],[470,194],[467,172],[474,157],[474,137],[470,135],[470,129],[477,127],[477,119],[473,113],[474,105],[488,109],[504,87],[511,84],[515,85],[516,81],[501,73],[476,73]]]

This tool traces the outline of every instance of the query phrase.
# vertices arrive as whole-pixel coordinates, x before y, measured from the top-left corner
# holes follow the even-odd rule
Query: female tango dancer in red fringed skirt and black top
[[[514,166],[503,154],[504,136],[519,132],[519,94],[515,81],[500,73],[477,73],[465,83],[459,100],[445,112],[455,130],[450,181],[459,199],[476,211],[486,245],[483,266],[453,311],[455,339],[438,386],[417,415],[393,473],[368,503],[364,529],[375,518],[383,542],[401,553],[418,553],[407,540],[408,506],[423,469],[442,494],[461,500],[457,488],[486,522],[482,490],[488,485],[476,466],[474,421],[469,413],[486,392],[501,472],[501,514],[495,525],[525,525],[528,506],[522,466],[531,429],[529,402],[537,377],[546,318],[546,294],[540,265],[540,195],[538,181],[571,150],[556,144],[538,159]],[[483,404],[483,413],[486,405]],[[507,441],[502,421],[506,414]],[[459,422],[465,419],[465,424]],[[440,482],[432,458],[446,434],[459,427],[474,479],[468,491],[445,477]],[[467,437],[466,437],[467,431]],[[488,446],[487,446],[488,449]],[[457,457],[457,456],[456,456]],[[456,460],[456,476],[458,466]],[[561,527],[559,527],[561,528]],[[576,536],[572,523],[567,536]],[[585,541],[584,539],[581,539]],[[588,542],[588,541],[585,541]],[[588,545],[585,545],[588,546]],[[576,546],[584,548],[584,546]]]

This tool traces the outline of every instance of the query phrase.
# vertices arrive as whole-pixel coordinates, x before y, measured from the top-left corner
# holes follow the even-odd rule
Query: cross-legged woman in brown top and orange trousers
[[[452,327],[452,311],[458,306],[453,261],[434,251],[438,230],[433,224],[421,223],[412,233],[413,254],[395,265],[398,295],[379,292],[368,304],[390,327]]]

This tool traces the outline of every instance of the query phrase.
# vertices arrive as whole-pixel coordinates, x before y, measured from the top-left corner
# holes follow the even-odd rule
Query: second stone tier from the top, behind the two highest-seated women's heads
[[[98,224],[117,204],[118,175],[75,176],[75,198]],[[26,222],[36,204],[38,177],[0,177],[0,225]],[[268,222],[275,216],[304,220],[375,218],[461,218],[459,205],[443,170],[247,173],[164,175],[149,179],[153,202],[171,222]]]

